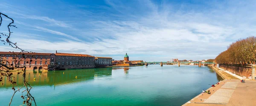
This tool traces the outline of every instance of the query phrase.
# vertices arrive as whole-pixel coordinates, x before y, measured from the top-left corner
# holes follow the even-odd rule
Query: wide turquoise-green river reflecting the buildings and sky
[[[14,76],[22,85],[22,75]],[[222,79],[207,66],[148,65],[30,71],[27,80],[38,106],[181,106]],[[8,106],[13,90],[3,83],[0,106]],[[20,96],[17,92],[12,106],[22,104]]]

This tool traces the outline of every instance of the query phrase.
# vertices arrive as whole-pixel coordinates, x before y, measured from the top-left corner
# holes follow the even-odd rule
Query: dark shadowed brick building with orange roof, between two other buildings
[[[50,54],[49,70],[94,68],[94,56],[87,54],[58,53]]]

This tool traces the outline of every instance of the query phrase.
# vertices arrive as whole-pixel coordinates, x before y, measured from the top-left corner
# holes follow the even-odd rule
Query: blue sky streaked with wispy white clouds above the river
[[[25,50],[169,61],[215,58],[256,33],[255,0],[1,0]],[[3,26],[9,20],[4,19]],[[0,32],[6,33],[5,27]],[[0,51],[17,51],[0,44]]]

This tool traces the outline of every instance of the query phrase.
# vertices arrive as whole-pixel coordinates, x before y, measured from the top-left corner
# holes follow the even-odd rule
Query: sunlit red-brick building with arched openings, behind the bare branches
[[[6,65],[17,64],[20,67],[26,66],[26,70],[48,69],[47,65],[49,64],[50,54],[51,53],[0,52],[1,60],[8,61],[4,62]],[[23,56],[25,58],[23,58]],[[17,62],[15,62],[15,58]]]

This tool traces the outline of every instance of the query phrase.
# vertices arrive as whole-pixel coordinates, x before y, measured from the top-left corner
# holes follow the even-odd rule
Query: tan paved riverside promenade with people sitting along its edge
[[[256,81],[223,80],[183,106],[256,106]],[[203,90],[203,89],[202,89]]]

